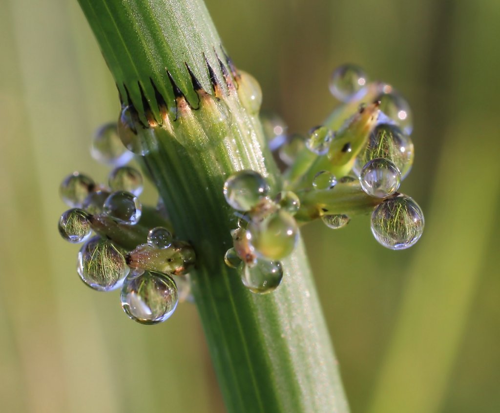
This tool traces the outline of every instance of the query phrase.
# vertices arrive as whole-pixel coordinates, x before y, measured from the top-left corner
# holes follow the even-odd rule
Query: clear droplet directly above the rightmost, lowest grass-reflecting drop
[[[363,166],[359,182],[368,195],[385,198],[399,188],[401,173],[390,160],[375,158]]]

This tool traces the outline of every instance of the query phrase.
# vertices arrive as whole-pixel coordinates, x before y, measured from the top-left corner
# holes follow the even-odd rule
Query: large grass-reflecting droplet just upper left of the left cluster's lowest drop
[[[78,274],[85,284],[98,291],[118,288],[128,274],[122,251],[99,236],[90,238],[78,252]]]

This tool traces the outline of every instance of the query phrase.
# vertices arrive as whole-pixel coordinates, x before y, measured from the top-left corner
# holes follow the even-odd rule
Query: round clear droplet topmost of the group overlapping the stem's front
[[[268,191],[265,179],[253,170],[240,170],[224,182],[225,200],[240,211],[251,209]]]

